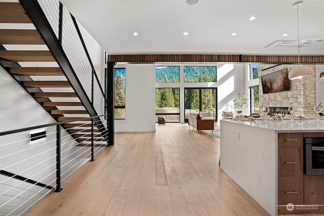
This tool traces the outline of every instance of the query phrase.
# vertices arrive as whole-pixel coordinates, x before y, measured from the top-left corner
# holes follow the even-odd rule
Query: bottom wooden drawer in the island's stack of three
[[[304,177],[278,177],[278,205],[304,204]]]

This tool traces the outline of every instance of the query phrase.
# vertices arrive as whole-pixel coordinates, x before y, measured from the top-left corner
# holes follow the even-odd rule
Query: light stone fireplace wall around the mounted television
[[[269,65],[259,64],[259,101],[260,110],[263,106],[270,107],[289,107],[293,106],[296,110],[294,114],[308,116],[314,114],[313,107],[316,103],[315,76],[303,77],[301,79],[289,80],[290,91],[263,94],[261,76],[281,69],[291,71],[296,65]],[[315,71],[315,65],[303,65]],[[272,67],[272,68],[269,68]],[[269,69],[267,69],[269,68]]]

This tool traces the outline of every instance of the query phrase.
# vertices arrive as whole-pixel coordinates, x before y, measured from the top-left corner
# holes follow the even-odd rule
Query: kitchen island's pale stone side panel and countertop
[[[292,145],[292,148],[299,148],[302,155],[303,136],[324,137],[324,120],[221,120],[220,126],[221,169],[270,215],[277,215],[278,137],[287,135],[288,142],[299,140],[292,143],[299,143],[301,147]],[[298,139],[293,139],[294,135]],[[299,161],[299,165],[303,166],[303,161]],[[303,170],[301,172],[299,176],[303,179]]]

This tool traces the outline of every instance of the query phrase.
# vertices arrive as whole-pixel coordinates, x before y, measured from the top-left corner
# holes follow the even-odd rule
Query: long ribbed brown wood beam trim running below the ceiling
[[[109,55],[108,62],[298,63],[298,56],[255,55]],[[300,56],[300,63],[321,64],[324,56]]]

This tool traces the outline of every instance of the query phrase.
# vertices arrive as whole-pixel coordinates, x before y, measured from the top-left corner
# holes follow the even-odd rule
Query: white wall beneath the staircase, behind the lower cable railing
[[[24,127],[37,126],[42,124],[54,123],[55,119],[39,105],[17,82],[14,78],[0,67],[0,131],[10,131]],[[46,129],[46,138],[36,141],[29,141],[30,133],[37,133]],[[76,143],[72,141],[72,137],[67,132],[62,131],[61,150],[66,150],[62,154],[68,157],[65,161],[74,158],[72,148]],[[18,142],[19,141],[19,142]],[[72,141],[72,142],[70,142]],[[10,144],[8,144],[10,143]],[[63,145],[64,144],[64,145]],[[15,153],[17,152],[17,153]],[[42,153],[45,152],[45,153]],[[6,156],[15,153],[12,156]],[[42,153],[42,154],[41,154]],[[39,155],[37,155],[39,154]],[[37,155],[37,156],[35,156]],[[0,137],[0,165],[6,171],[31,178],[32,180],[41,181],[49,184],[55,179],[55,172],[50,178],[42,180],[56,169],[56,126],[35,129],[33,131],[21,132],[13,135],[5,135]],[[34,157],[35,156],[35,157]],[[54,156],[50,160],[50,157]],[[14,164],[18,161],[25,160],[21,163]],[[38,164],[40,163],[41,164]],[[35,167],[28,169],[29,167]],[[54,164],[54,166],[53,166]],[[63,165],[63,163],[62,163]],[[31,177],[38,171],[51,166],[51,168]],[[6,168],[8,167],[8,168]],[[51,185],[55,185],[55,181]]]

